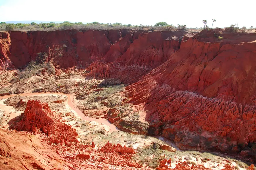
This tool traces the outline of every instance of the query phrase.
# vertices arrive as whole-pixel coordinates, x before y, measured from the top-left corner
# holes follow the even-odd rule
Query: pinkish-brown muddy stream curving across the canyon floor
[[[51,93],[51,92],[42,92],[42,93],[22,93],[22,94],[14,94],[14,95],[6,95],[6,96],[1,96],[0,99],[7,99],[9,97],[14,97],[16,95],[20,95],[20,96],[35,96],[35,95],[42,95],[42,94],[58,94],[58,95],[65,95],[68,97],[68,105],[69,107],[77,113],[77,116],[79,116],[82,120],[87,120],[87,121],[95,121],[95,122],[98,122],[99,124],[105,124],[106,126],[109,127],[109,132],[112,133],[113,131],[116,131],[118,130],[114,124],[111,124],[107,119],[96,119],[96,118],[92,118],[92,117],[88,117],[88,116],[85,116],[81,110],[77,109],[75,106],[74,106],[74,94],[64,94],[64,93]],[[11,117],[16,117],[15,115],[11,115],[10,114],[10,109],[12,109],[11,106],[7,106],[3,103],[0,103],[0,108],[5,111],[7,114],[9,114]],[[71,110],[71,111],[72,111]],[[13,118],[14,118],[13,117]]]

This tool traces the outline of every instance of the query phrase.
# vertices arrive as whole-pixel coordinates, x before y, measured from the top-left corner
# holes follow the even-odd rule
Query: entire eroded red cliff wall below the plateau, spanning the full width
[[[180,148],[243,150],[256,159],[256,34],[214,29],[183,35],[130,29],[1,32],[0,65],[22,67],[39,59],[57,69],[85,69],[84,76],[119,79],[130,84],[128,102],[146,112],[149,134]]]

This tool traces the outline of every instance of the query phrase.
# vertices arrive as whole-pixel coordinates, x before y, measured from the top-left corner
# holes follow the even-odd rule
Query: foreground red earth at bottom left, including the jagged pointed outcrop
[[[50,169],[46,167],[59,168],[62,166],[61,163],[58,163],[58,165],[55,164],[54,166],[50,164],[44,165],[46,158],[35,160],[34,156],[36,155],[34,152],[37,149],[39,149],[38,152],[41,156],[43,156],[45,152],[52,152],[52,154],[48,153],[48,155],[51,156],[47,160],[59,159],[64,163],[64,166],[67,165],[69,169],[81,169],[79,167],[111,169],[111,166],[121,169],[141,168],[139,163],[132,160],[135,154],[133,148],[107,143],[102,148],[95,150],[93,149],[95,147],[93,142],[92,145],[81,145],[77,140],[78,135],[76,130],[58,120],[57,117],[59,116],[49,109],[47,103],[29,100],[24,113],[20,116],[21,120],[15,125],[12,125],[13,129],[23,132],[1,130],[0,134],[3,133],[5,135],[0,136],[0,154],[5,157],[3,162],[7,162],[6,164],[4,163],[3,169],[9,169],[15,166],[19,167],[18,169],[32,169],[32,167],[35,168],[34,166],[38,169]],[[39,134],[42,137],[42,144],[40,144],[41,142],[39,140],[34,141],[31,137],[29,137],[31,143],[22,143],[22,141],[18,139],[14,141],[16,142],[15,144],[13,144],[12,141],[9,141],[11,144],[7,142],[12,134],[16,137],[22,135],[28,136],[28,132]],[[30,147],[34,142],[37,143],[36,145],[40,145],[40,147],[33,147],[28,151],[27,149],[21,149],[22,147]],[[47,142],[48,145],[45,145],[45,142]],[[19,149],[14,151],[11,145],[18,145]],[[23,158],[19,156],[22,154]],[[88,163],[93,164],[89,165]]]

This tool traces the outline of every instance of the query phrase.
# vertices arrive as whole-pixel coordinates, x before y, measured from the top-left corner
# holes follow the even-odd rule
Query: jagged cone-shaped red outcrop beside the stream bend
[[[51,143],[78,142],[77,132],[71,126],[56,119],[47,103],[38,100],[28,100],[25,111],[20,115],[19,121],[13,129],[32,132],[34,134],[46,134],[46,141]]]

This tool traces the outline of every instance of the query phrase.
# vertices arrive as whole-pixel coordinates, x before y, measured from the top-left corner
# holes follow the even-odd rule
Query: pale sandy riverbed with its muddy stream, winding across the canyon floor
[[[145,135],[134,135],[117,129],[106,119],[96,119],[84,116],[82,111],[74,106],[74,95],[63,93],[24,93],[19,95],[8,95],[0,97],[0,126],[8,129],[11,121],[19,116],[25,108],[28,100],[40,100],[47,102],[52,111],[61,115],[61,120],[72,126],[79,134],[81,143],[95,143],[99,148],[110,143],[120,143],[137,149],[135,160],[143,165],[155,168],[157,162],[162,158],[171,158],[172,168],[178,162],[186,161],[192,164],[202,164],[212,169],[222,169],[226,163],[244,169],[247,165],[239,160],[226,155],[209,152],[181,151],[174,143],[163,137],[150,137]],[[22,102],[21,102],[22,101]]]

